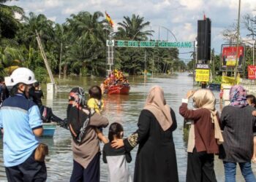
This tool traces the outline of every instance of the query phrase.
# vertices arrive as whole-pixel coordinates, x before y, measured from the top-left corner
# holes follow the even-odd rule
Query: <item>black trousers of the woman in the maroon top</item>
[[[187,182],[217,182],[214,173],[214,154],[207,154],[206,151],[187,155]]]

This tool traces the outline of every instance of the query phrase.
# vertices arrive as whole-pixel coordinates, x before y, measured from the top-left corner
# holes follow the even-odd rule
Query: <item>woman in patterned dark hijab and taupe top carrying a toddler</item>
[[[94,129],[107,127],[108,119],[90,111],[80,87],[69,92],[67,123],[72,135],[74,157],[70,181],[99,181],[99,138]]]

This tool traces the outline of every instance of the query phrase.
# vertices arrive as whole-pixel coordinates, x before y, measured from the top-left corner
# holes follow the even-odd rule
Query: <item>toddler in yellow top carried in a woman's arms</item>
[[[87,106],[89,108],[93,108],[94,111],[96,111],[98,114],[101,114],[103,111],[103,100],[102,100],[102,90],[100,89],[99,86],[95,85],[92,86],[89,89],[89,96],[90,99],[87,102]],[[108,143],[108,139],[105,138],[105,136],[102,133],[101,128],[96,128],[95,129],[98,135],[99,140],[101,140],[103,143]]]

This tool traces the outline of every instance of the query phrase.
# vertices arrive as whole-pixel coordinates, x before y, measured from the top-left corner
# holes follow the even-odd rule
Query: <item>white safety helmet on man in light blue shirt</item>
[[[8,86],[14,86],[18,83],[34,84],[37,80],[34,73],[29,68],[17,68],[12,72],[11,76],[4,77],[4,82]]]

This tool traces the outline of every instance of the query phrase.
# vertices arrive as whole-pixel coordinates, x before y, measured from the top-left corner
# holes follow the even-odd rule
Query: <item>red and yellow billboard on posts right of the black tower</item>
[[[238,50],[238,53],[237,53]],[[237,61],[236,61],[237,58]],[[222,68],[235,67],[241,68],[244,60],[244,47],[227,46],[222,47]]]

